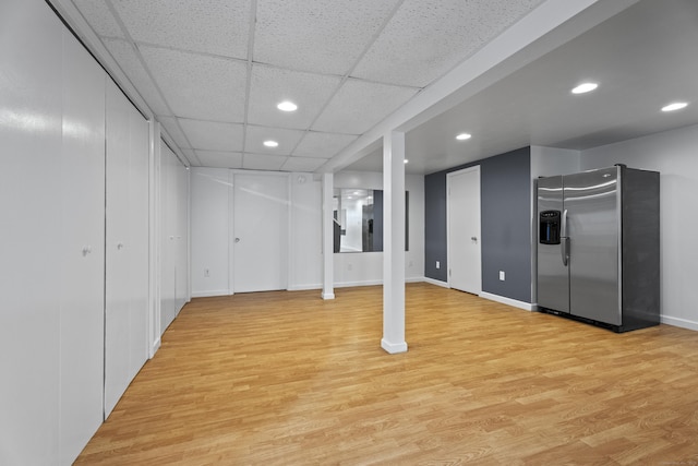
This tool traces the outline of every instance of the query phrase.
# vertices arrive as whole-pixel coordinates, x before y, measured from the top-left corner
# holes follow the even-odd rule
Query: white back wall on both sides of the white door
[[[230,225],[234,174],[236,170],[224,168],[191,169],[192,296],[233,292]],[[278,174],[268,176],[278,178]],[[322,287],[321,182],[311,174],[289,174],[289,178],[288,289],[318,289]]]

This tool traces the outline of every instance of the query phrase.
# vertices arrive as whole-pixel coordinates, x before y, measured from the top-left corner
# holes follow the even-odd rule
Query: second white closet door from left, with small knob
[[[103,421],[105,73],[63,31],[59,457],[71,464]]]

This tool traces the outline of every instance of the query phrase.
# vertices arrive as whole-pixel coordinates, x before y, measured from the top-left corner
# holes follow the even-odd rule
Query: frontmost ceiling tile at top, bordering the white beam
[[[424,87],[542,0],[406,0],[352,76]]]

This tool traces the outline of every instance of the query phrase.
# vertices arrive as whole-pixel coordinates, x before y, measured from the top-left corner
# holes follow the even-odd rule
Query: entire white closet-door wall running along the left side
[[[189,299],[188,172],[157,205],[148,122],[45,2],[0,31],[0,465],[68,465],[148,355],[152,205],[179,240],[153,279]]]

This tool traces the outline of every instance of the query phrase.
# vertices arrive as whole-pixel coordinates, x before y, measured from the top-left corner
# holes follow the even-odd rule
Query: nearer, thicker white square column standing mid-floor
[[[405,342],[405,133],[383,138],[383,339],[389,354]]]

